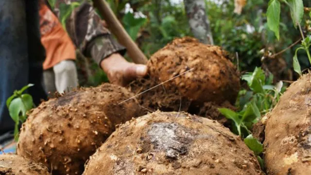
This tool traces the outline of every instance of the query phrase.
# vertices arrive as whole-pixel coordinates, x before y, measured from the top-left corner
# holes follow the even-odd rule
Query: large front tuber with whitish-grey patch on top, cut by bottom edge
[[[263,175],[253,152],[220,123],[159,111],[122,124],[106,140],[83,175],[99,174]]]

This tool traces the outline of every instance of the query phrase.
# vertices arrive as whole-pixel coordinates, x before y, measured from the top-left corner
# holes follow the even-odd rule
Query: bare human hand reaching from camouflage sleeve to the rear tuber
[[[147,75],[147,66],[130,63],[119,53],[113,53],[101,62],[110,83],[126,86],[138,77]]]

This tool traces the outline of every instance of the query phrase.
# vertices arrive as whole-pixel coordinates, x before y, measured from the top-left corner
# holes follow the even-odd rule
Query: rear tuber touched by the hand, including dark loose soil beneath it
[[[152,88],[137,97],[147,111],[186,111],[226,122],[215,109],[234,108],[240,73],[220,47],[177,38],[153,54],[147,65],[148,77],[129,85],[135,94]],[[191,71],[155,87],[187,70]]]

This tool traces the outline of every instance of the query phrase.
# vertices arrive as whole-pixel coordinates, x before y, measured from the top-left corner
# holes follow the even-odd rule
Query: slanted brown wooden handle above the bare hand
[[[127,34],[118,18],[110,9],[109,4],[105,0],[93,0],[94,7],[98,8],[99,12],[107,22],[110,31],[117,37],[118,41],[127,49],[127,53],[136,64],[146,64],[148,59],[138,48],[136,43]]]

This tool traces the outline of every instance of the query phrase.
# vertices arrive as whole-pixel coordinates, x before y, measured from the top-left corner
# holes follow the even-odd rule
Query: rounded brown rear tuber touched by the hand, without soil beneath
[[[178,38],[153,54],[148,62],[151,77],[177,88],[182,97],[198,104],[229,101],[234,104],[240,89],[240,74],[227,53],[218,46],[191,37]]]

